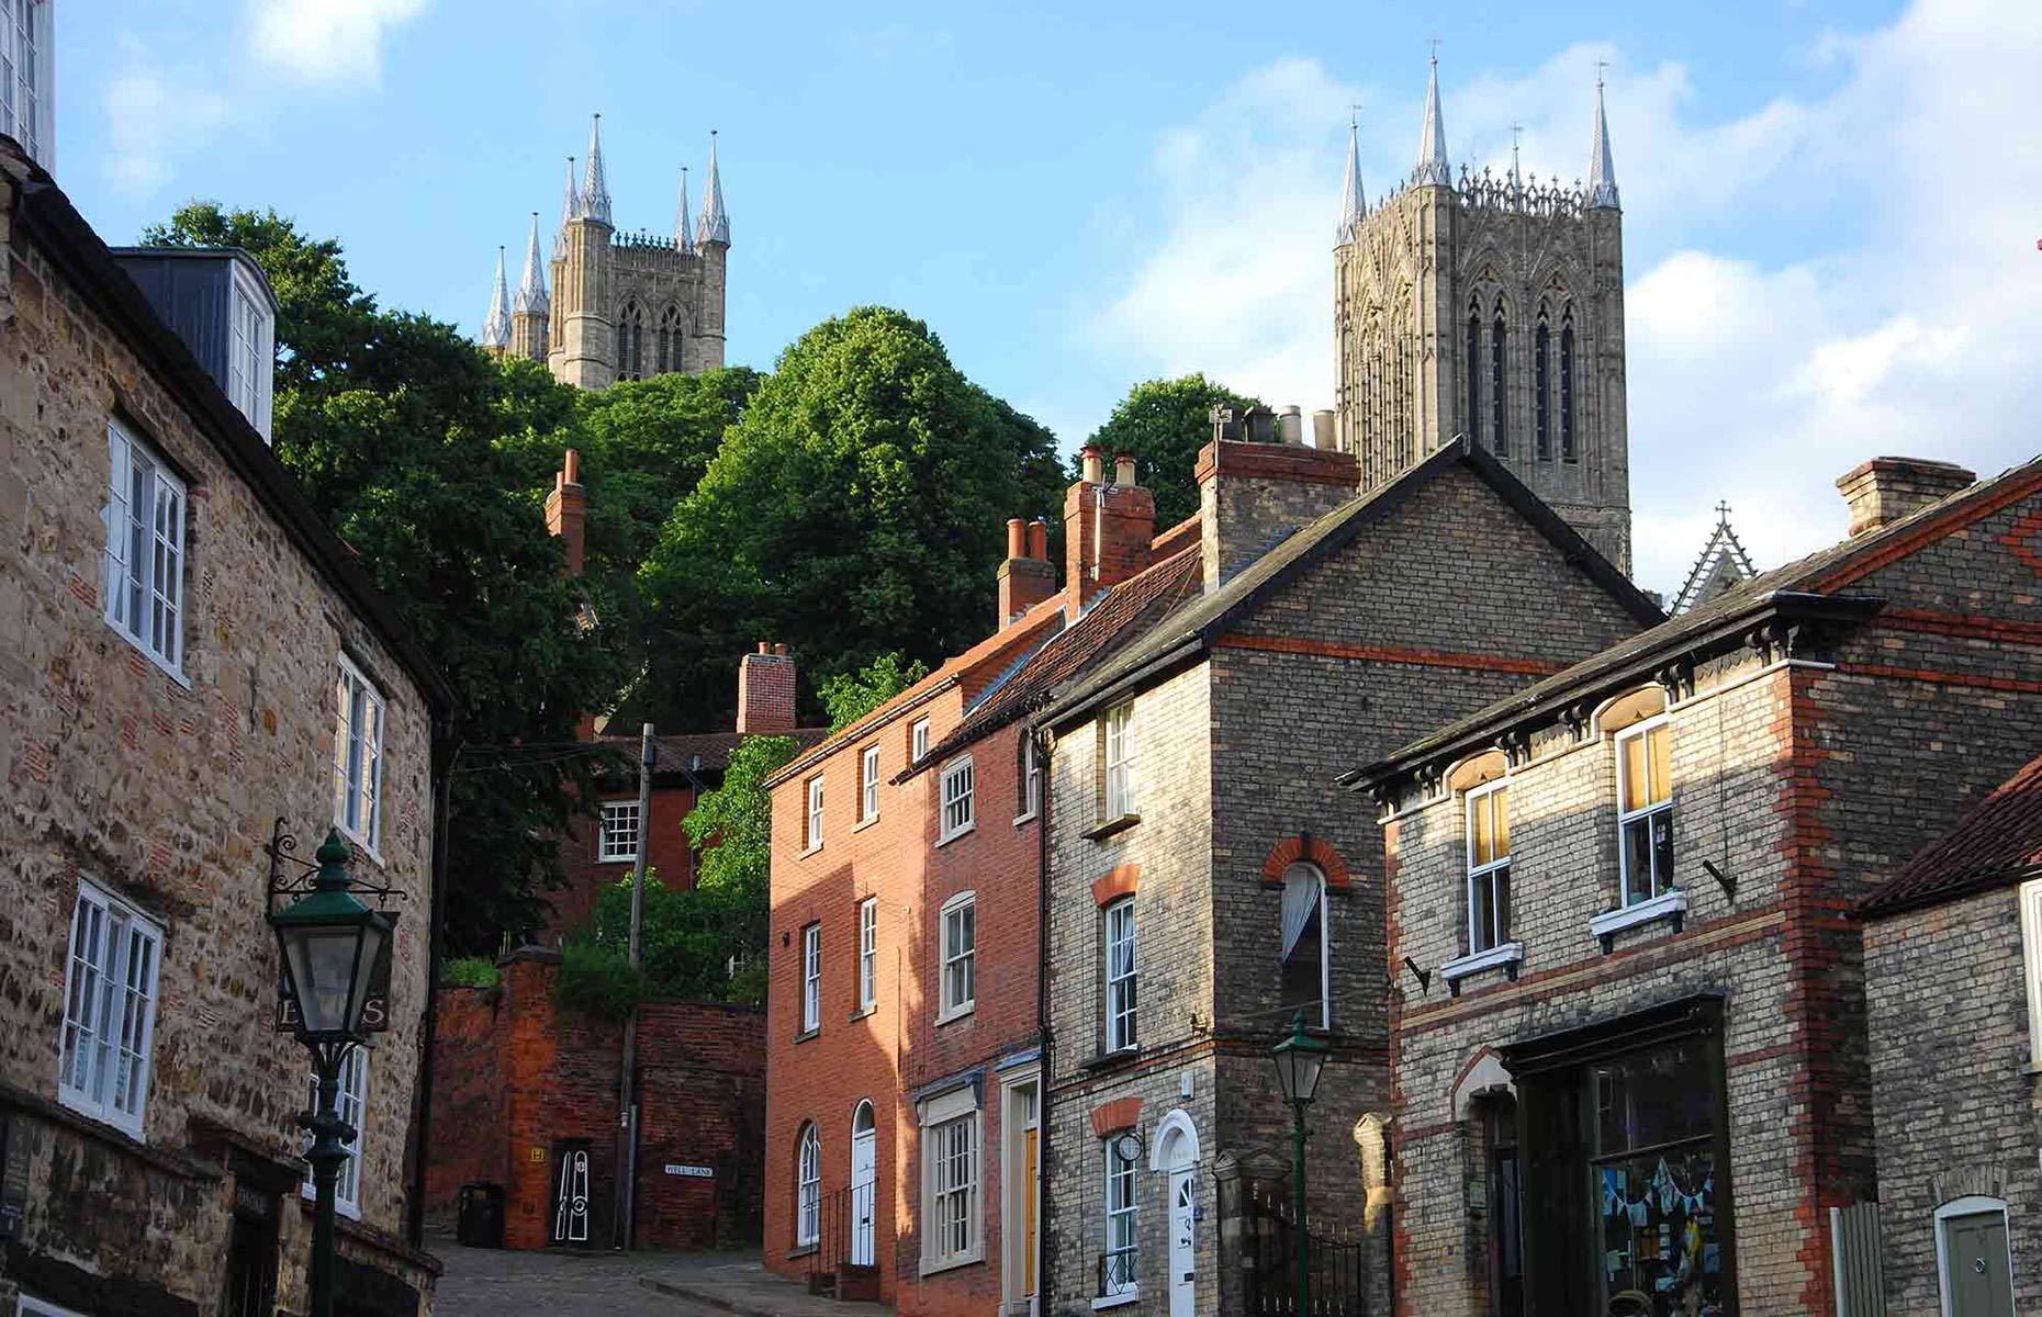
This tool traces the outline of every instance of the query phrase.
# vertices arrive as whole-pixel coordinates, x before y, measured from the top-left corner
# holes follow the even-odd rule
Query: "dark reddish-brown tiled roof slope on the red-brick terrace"
[[[1201,580],[1201,549],[1193,543],[1160,564],[1111,586],[1076,625],[1064,629],[1031,653],[1019,670],[986,694],[976,709],[909,766],[896,780],[943,762],[988,731],[1027,717],[1050,702],[1060,686],[1107,662],[1121,647],[1148,633],[1186,598],[1197,596]]]

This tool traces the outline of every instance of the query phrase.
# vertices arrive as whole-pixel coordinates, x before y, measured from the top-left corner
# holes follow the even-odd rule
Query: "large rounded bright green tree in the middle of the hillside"
[[[664,706],[731,717],[731,660],[784,641],[813,676],[937,664],[992,621],[1009,517],[1060,508],[1050,431],[964,378],[927,325],[860,306],[788,347],[639,582]]]

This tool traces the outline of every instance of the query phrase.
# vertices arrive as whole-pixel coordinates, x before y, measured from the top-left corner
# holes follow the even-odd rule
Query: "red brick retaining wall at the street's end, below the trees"
[[[592,1248],[611,1241],[623,1029],[553,1003],[557,962],[527,949],[496,988],[441,988],[429,1213],[451,1223],[472,1180],[504,1184],[504,1243],[547,1248],[564,1141],[590,1154]],[[707,1250],[758,1239],[766,1115],[760,1013],[647,1003],[639,1017],[637,1243]],[[715,1176],[668,1176],[668,1164]]]

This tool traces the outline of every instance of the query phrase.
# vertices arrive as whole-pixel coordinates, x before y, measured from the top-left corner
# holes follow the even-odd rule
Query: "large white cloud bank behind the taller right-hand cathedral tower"
[[[1685,67],[1634,69],[1607,45],[1523,76],[1450,76],[1454,159],[1507,165],[1519,123],[1527,172],[1583,176],[1597,59],[1611,61],[1634,261],[1644,584],[1681,582],[1717,498],[1768,566],[1844,533],[1834,480],[1864,457],[1989,474],[2042,451],[2042,153],[2028,143],[2042,123],[2042,6],[1915,0],[1891,27],[1811,53],[1834,90],[1738,116],[1711,118],[1709,90]],[[1372,190],[1409,167],[1421,92],[1368,98]],[[1099,316],[1099,339],[1146,370],[1205,370],[1272,402],[1323,404],[1350,100],[1317,61],[1282,61],[1168,133],[1154,161],[1162,231]]]

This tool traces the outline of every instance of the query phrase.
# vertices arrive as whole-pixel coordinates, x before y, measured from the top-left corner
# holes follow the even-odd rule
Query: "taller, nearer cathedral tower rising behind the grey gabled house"
[[[1419,159],[1374,206],[1358,135],[1333,247],[1340,445],[1378,486],[1468,435],[1632,562],[1623,212],[1603,88],[1587,186],[1460,169],[1433,61]]]

